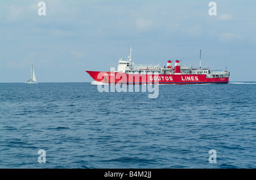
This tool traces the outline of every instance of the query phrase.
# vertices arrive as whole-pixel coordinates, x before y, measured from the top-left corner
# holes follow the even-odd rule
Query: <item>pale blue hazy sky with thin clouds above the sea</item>
[[[0,0],[0,82],[91,82],[89,70],[117,70],[130,46],[135,64],[202,66],[256,81],[255,1]]]

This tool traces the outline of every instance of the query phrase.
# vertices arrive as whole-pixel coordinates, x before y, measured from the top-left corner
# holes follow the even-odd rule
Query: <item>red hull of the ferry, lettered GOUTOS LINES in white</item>
[[[119,84],[191,84],[191,83],[228,83],[229,78],[207,78],[206,74],[126,74],[118,72],[86,72],[94,81]]]

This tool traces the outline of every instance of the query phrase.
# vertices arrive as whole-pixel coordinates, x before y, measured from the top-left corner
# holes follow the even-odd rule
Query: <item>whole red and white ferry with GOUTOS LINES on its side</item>
[[[98,72],[86,70],[96,82],[108,84],[194,84],[194,83],[228,83],[230,72],[228,70],[210,70],[201,66],[181,66],[179,60],[167,61],[167,66],[158,65],[136,65],[131,61],[131,48],[128,60],[118,61],[118,68],[109,72]]]

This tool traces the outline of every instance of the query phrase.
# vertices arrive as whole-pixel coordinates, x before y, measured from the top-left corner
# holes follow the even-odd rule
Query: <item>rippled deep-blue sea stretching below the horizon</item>
[[[256,82],[148,94],[0,83],[0,168],[256,168]]]

